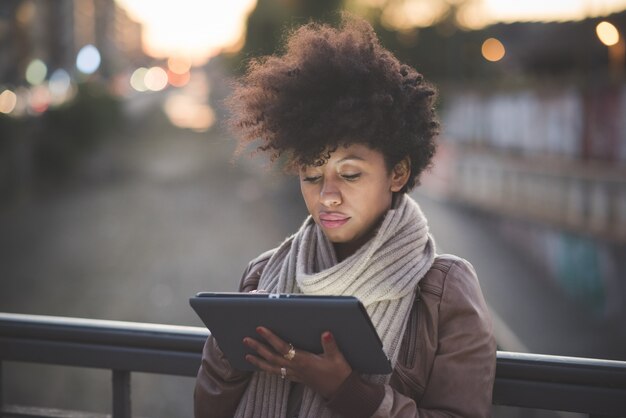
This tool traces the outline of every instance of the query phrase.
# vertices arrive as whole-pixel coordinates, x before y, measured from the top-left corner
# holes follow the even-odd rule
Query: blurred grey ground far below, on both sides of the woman
[[[234,144],[219,133],[177,130],[152,113],[138,135],[104,141],[80,180],[2,209],[1,311],[201,326],[187,298],[235,290],[251,258],[297,229],[305,209],[294,178],[264,160],[233,160]],[[501,349],[626,359],[623,335],[565,300],[488,218],[415,197],[439,252],[475,266]],[[5,370],[17,382],[5,389],[11,403],[32,403],[34,393],[64,407],[68,385],[91,373],[72,408],[108,408],[104,372]],[[138,415],[191,415],[192,379],[133,379]]]

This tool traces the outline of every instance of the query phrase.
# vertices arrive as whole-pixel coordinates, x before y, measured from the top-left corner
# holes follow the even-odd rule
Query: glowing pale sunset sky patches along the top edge
[[[256,0],[117,0],[144,24],[144,44],[158,57],[182,55],[198,63],[235,47]],[[372,0],[363,0],[372,3]],[[382,0],[381,0],[382,1]],[[380,1],[377,0],[380,3]],[[428,0],[406,0],[428,8]],[[626,0],[483,0],[474,16],[493,21],[575,20],[626,9]]]

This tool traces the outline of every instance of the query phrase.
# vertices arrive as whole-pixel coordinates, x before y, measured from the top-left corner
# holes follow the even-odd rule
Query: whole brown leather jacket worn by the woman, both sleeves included
[[[271,252],[248,265],[239,290],[257,288]],[[420,281],[387,385],[353,373],[328,407],[348,417],[488,417],[495,377],[492,324],[473,267],[439,255]],[[232,417],[250,373],[233,370],[209,336],[194,393],[196,418]]]

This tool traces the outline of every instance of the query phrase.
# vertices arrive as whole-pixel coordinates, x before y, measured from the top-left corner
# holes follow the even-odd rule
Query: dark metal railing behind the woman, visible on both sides
[[[31,416],[3,406],[2,362],[45,363],[111,370],[112,416],[130,418],[131,373],[193,377],[207,335],[198,327],[0,313],[0,408],[3,416]],[[493,402],[626,416],[626,362],[499,351]]]

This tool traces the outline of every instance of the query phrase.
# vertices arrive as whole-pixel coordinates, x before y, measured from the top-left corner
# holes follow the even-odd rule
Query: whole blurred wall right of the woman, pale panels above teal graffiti
[[[626,313],[626,85],[456,90],[437,169],[445,194],[502,220],[558,285]]]

